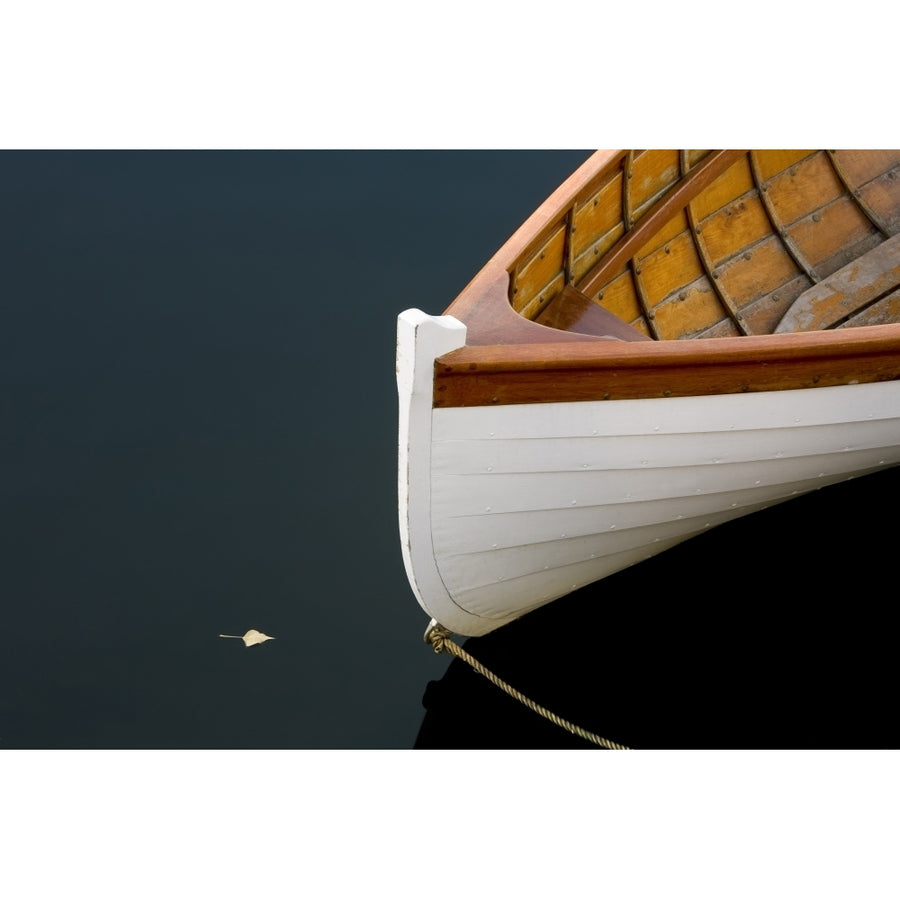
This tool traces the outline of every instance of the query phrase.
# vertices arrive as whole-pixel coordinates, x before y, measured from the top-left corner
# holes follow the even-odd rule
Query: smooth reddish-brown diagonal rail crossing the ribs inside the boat
[[[616,274],[631,259],[655,231],[661,228],[676,212],[684,209],[694,197],[712,184],[745,150],[718,150],[710,154],[692,171],[687,181],[680,181],[669,193],[656,203],[640,222],[622,237],[606,256],[575,285],[589,297],[596,294],[606,279]]]

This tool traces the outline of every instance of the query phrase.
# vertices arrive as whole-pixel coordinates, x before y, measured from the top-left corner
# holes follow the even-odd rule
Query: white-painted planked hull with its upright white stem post
[[[400,529],[419,603],[485,634],[730,519],[900,463],[900,382],[432,409],[450,317],[398,330]]]

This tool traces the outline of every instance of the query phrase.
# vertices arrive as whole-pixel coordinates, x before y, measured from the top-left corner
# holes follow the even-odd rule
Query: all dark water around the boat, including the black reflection
[[[393,354],[586,155],[0,156],[0,748],[584,746],[421,641]],[[632,746],[896,747],[897,485],[467,647]]]

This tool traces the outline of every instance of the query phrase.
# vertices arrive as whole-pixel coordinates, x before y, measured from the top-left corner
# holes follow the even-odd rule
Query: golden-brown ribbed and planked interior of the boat
[[[900,322],[900,150],[623,150],[518,254],[509,302],[573,334]]]

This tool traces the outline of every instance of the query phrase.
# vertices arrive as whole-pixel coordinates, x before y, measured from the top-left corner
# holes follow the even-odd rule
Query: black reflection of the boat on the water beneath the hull
[[[779,504],[464,647],[635,749],[900,748],[898,489],[891,469]],[[420,749],[592,747],[458,659],[423,705]]]

